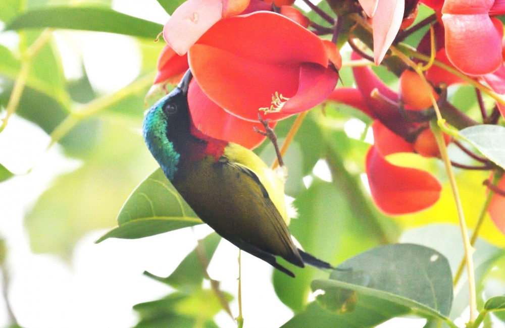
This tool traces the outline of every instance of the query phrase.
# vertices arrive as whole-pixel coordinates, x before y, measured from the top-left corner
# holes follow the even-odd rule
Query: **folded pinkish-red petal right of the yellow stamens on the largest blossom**
[[[331,67],[302,63],[296,94],[282,107],[282,113],[295,114],[307,111],[326,99],[338,83],[338,73]]]

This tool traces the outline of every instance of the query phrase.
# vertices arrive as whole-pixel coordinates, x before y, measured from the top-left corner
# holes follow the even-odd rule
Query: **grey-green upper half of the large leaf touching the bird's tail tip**
[[[410,299],[441,315],[450,312],[449,262],[434,249],[415,244],[384,245],[352,257],[338,267],[348,270],[333,271],[330,280]]]

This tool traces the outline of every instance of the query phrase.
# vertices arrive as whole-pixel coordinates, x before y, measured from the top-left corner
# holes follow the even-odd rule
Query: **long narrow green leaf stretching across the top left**
[[[155,39],[163,25],[118,13],[103,7],[47,7],[27,11],[6,26],[6,30],[44,27],[118,33]]]

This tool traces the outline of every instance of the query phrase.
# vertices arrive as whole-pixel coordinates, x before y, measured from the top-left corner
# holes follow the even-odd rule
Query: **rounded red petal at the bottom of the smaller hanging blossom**
[[[442,187],[428,172],[397,167],[374,146],[367,154],[367,175],[375,204],[387,214],[406,214],[430,207]]]

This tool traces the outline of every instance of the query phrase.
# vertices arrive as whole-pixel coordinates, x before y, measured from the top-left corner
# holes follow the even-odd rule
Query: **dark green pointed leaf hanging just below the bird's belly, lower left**
[[[206,277],[205,270],[207,269],[203,265],[209,265],[220,241],[221,237],[216,233],[199,240],[198,246],[182,260],[181,264],[167,278],[155,276],[147,271],[144,272],[144,275],[178,290],[189,292],[195,288],[201,288],[201,283]],[[202,259],[200,256],[205,258]]]

